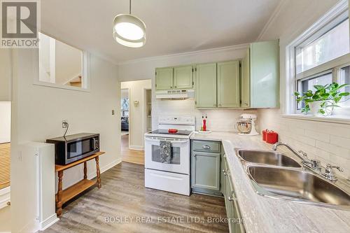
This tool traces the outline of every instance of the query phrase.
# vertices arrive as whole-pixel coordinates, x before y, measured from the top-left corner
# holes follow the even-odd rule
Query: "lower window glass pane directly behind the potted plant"
[[[312,92],[316,92],[314,85],[327,85],[330,83],[332,83],[332,73],[325,73],[307,80],[299,80],[297,82],[297,91],[304,93],[307,92],[307,90],[312,90]],[[304,108],[304,106],[304,102],[299,103],[297,109]]]

